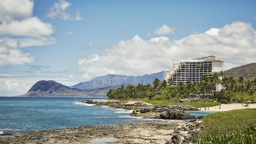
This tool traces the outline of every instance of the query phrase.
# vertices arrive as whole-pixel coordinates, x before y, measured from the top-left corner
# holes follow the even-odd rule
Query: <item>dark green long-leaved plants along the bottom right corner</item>
[[[237,130],[203,139],[192,138],[194,144],[255,144],[256,126],[247,125],[243,131]]]

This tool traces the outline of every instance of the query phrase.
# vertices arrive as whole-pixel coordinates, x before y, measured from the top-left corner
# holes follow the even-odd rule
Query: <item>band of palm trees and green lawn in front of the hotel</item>
[[[256,92],[256,78],[244,81],[243,77],[235,80],[224,77],[225,72],[215,73],[212,77],[204,75],[201,82],[180,82],[177,86],[167,85],[165,80],[154,80],[153,85],[138,84],[137,86],[122,85],[117,89],[110,89],[109,99],[139,100],[152,104],[188,104],[200,107],[215,106],[221,103],[254,102]],[[222,80],[221,80],[222,79]],[[213,102],[214,101],[214,102]]]

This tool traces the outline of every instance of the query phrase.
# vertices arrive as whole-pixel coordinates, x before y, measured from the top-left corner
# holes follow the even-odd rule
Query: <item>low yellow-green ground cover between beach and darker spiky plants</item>
[[[216,136],[231,131],[243,130],[245,125],[256,124],[256,109],[231,110],[212,113],[203,117],[202,125],[206,126],[200,138]]]

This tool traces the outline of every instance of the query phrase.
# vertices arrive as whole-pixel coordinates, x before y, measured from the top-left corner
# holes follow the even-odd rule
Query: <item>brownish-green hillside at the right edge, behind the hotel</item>
[[[225,72],[225,77],[232,76],[234,78],[238,78],[242,76],[245,80],[253,80],[254,78],[256,78],[256,62],[235,67],[226,70]]]

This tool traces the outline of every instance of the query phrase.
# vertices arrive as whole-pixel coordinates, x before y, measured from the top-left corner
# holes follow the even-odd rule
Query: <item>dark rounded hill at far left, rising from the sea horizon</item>
[[[76,96],[88,96],[87,92],[77,88],[70,88],[68,86],[62,85],[55,81],[38,81],[35,83],[30,90],[21,95],[23,97],[54,97],[54,96],[62,96],[62,97],[76,97]]]

